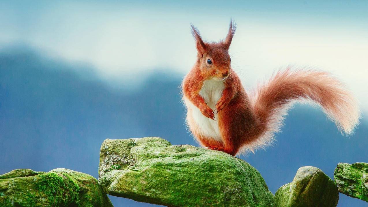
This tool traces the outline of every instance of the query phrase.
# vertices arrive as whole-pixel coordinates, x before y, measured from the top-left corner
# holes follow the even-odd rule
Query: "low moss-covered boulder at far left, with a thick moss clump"
[[[112,207],[91,175],[64,168],[50,172],[16,169],[0,175],[0,206]]]

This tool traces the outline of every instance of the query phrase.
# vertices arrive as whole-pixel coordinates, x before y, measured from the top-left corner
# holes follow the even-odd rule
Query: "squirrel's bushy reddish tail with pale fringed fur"
[[[350,135],[359,123],[358,102],[344,84],[329,73],[312,69],[279,70],[250,97],[259,120],[260,135],[252,148],[272,143],[287,110],[295,101],[312,101],[323,109],[339,130]]]

